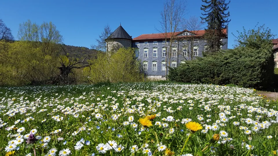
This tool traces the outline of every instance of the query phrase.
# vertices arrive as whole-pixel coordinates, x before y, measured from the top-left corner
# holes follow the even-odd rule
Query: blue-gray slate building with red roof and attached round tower
[[[141,60],[142,70],[151,79],[164,79],[166,66],[177,67],[180,63],[193,60],[196,57],[202,57],[202,53],[208,49],[206,40],[203,39],[205,31],[180,31],[175,32],[175,40],[169,48],[169,40],[165,40],[166,35],[158,34],[142,34],[136,38],[131,36],[120,25],[107,38],[111,46],[109,50],[116,47],[133,47],[135,48],[136,58]],[[168,33],[170,36],[170,33]],[[167,36],[168,38],[168,36]],[[193,42],[192,42],[193,41]],[[221,49],[228,49],[228,27],[223,29],[221,39],[224,44]],[[166,48],[167,46],[167,48]],[[193,46],[193,48],[191,48]],[[166,49],[168,49],[166,51]],[[171,50],[171,51],[170,51]],[[170,58],[166,58],[166,54],[170,54]],[[168,70],[168,69],[167,69]],[[168,72],[167,72],[168,73]]]

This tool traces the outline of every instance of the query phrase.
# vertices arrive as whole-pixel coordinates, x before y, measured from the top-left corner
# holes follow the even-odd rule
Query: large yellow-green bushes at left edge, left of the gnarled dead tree
[[[0,44],[0,73],[6,75],[0,74],[0,81],[2,80],[0,85],[43,82],[58,73],[58,57],[43,52],[40,47],[34,45],[34,42],[1,41],[1,43],[3,44]]]

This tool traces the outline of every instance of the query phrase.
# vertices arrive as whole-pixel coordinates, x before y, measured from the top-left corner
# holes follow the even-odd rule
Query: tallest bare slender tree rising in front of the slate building
[[[165,49],[166,49],[165,77],[167,76],[167,70],[169,70],[168,67],[170,67],[170,63],[171,63],[172,44],[173,41],[177,39],[177,34],[178,34],[177,32],[180,30],[180,24],[185,13],[186,13],[186,1],[180,1],[180,0],[167,0],[166,2],[164,2],[163,10],[160,13],[161,29],[156,28],[156,30],[158,30],[162,34],[161,37],[164,38],[164,42],[165,42]]]

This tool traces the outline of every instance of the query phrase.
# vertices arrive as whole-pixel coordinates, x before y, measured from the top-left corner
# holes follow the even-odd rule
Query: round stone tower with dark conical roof
[[[121,25],[105,41],[108,51],[116,51],[121,47],[131,47],[132,45],[132,37]]]

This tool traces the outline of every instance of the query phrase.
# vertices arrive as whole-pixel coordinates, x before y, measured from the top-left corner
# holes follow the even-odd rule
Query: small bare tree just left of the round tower
[[[104,26],[104,30],[101,32],[101,35],[99,36],[99,39],[96,39],[97,45],[91,45],[92,49],[96,49],[99,51],[108,51],[108,42],[111,38],[109,36],[112,34],[111,28],[109,25]],[[106,40],[106,41],[105,41]]]

